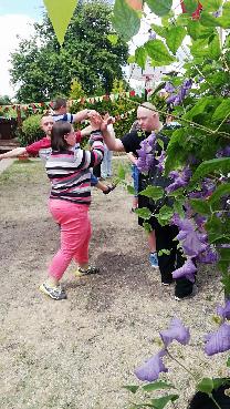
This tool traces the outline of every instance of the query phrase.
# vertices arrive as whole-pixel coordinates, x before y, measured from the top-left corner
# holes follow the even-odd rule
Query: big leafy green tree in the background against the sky
[[[20,102],[40,102],[69,95],[77,78],[87,94],[109,93],[114,79],[123,79],[128,47],[123,40],[112,44],[111,7],[90,1],[79,6],[61,48],[46,14],[35,23],[35,35],[22,40],[11,54],[11,81],[20,86]]]

